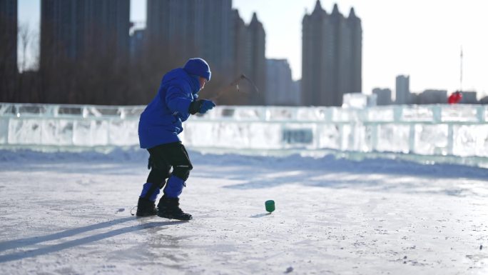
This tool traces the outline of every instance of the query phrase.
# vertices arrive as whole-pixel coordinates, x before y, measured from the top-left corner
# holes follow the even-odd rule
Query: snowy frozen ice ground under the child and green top
[[[488,272],[488,169],[190,157],[180,222],[131,216],[142,150],[0,151],[0,274]]]

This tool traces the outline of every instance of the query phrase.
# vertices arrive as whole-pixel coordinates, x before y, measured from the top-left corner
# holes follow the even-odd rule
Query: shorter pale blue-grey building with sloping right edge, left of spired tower
[[[286,59],[266,59],[265,105],[298,106],[300,99]]]

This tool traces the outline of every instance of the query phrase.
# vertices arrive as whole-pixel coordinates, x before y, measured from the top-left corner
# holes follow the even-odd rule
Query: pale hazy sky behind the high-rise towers
[[[39,0],[19,0],[19,21],[39,25]],[[233,0],[249,23],[253,12],[266,31],[266,57],[288,59],[294,79],[302,74],[302,19],[316,0]],[[463,49],[463,90],[488,96],[488,1],[485,0],[321,0],[330,13],[337,3],[362,20],[362,90],[395,92],[395,76],[410,75],[410,89],[459,89]],[[146,20],[146,1],[131,0],[131,20]]]

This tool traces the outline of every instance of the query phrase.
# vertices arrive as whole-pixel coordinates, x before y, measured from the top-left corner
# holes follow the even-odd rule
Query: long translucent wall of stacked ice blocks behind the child
[[[144,106],[0,104],[0,146],[137,146]],[[183,124],[186,146],[488,157],[488,106],[218,106]]]

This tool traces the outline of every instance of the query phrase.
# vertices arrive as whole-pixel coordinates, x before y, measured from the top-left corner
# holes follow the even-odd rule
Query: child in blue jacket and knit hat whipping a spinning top
[[[139,196],[137,216],[157,214],[168,219],[192,219],[179,207],[179,196],[193,166],[178,134],[183,131],[181,124],[190,114],[205,114],[215,106],[210,100],[198,100],[198,91],[210,81],[210,76],[205,60],[188,59],[183,68],[173,69],[163,76],[158,94],[141,114],[139,143],[149,151],[151,172]],[[160,189],[163,189],[163,197],[156,209]]]

